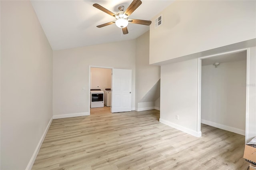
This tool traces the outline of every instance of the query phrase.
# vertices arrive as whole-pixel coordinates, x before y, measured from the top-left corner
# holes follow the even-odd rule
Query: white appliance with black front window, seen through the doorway
[[[91,108],[104,107],[104,92],[100,89],[91,89]]]

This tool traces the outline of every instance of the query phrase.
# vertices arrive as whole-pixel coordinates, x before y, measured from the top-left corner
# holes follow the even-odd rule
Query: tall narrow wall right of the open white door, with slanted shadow
[[[136,39],[136,97],[135,106],[137,109],[154,107],[154,94],[143,97],[154,87],[160,79],[160,66],[149,65],[149,32]],[[159,91],[160,93],[160,91]],[[157,98],[158,98],[157,97]],[[142,103],[140,103],[142,102]],[[140,103],[140,104],[139,104]]]

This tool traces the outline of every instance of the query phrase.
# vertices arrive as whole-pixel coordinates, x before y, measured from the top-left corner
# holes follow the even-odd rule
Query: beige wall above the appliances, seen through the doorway
[[[90,89],[111,88],[112,69],[91,67]]]

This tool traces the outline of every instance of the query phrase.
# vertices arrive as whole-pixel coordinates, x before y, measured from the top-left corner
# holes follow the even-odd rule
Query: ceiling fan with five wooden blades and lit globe
[[[107,10],[106,8],[100,6],[99,4],[93,4],[95,8],[98,8],[99,10],[102,10],[103,12],[106,12],[107,14],[113,16],[116,18],[115,21],[107,22],[105,24],[98,25],[98,28],[102,28],[104,26],[108,26],[111,24],[116,24],[119,28],[122,28],[123,34],[128,34],[128,23],[132,24],[142,24],[149,26],[151,24],[151,21],[148,20],[138,20],[138,19],[128,19],[129,16],[134,12],[140,5],[142,4],[141,0],[133,0],[130,6],[124,11],[124,6],[119,6],[118,12],[114,14],[113,12]]]

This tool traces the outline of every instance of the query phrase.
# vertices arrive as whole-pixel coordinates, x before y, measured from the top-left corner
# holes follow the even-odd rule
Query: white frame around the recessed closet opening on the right
[[[202,90],[202,59],[206,58],[212,58],[212,57],[217,57],[220,55],[225,55],[225,54],[232,54],[232,53],[238,53],[246,51],[246,84],[249,84],[249,48],[244,48],[244,49],[238,49],[234,51],[228,51],[224,53],[218,53],[214,55],[207,55],[204,57],[199,57],[198,58],[198,88],[197,88],[197,95],[198,95],[198,101],[197,101],[197,132],[201,132],[201,90]],[[248,136],[248,109],[249,109],[249,102],[248,98],[249,97],[249,89],[248,86],[246,86],[246,118],[245,118],[245,142],[247,142],[247,136]]]

